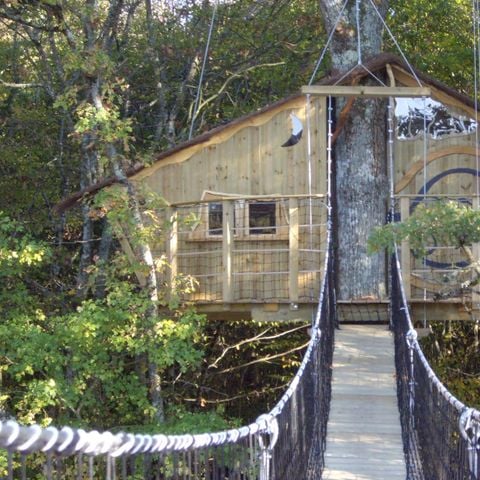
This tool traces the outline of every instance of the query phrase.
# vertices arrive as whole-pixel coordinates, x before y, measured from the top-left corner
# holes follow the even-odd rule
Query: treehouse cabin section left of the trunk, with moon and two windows
[[[314,127],[282,146],[296,141],[292,121]],[[326,245],[325,158],[325,99],[307,106],[297,95],[163,153],[133,177],[171,205],[171,275],[195,278],[188,300],[199,310],[311,317]]]

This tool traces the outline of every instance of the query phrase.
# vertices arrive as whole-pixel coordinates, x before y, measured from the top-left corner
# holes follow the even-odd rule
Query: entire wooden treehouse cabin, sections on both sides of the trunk
[[[381,96],[399,97],[393,149],[396,219],[439,198],[476,202],[472,101],[410,72],[392,55],[365,65],[388,82],[388,88],[377,87]],[[172,231],[157,254],[168,252],[170,281],[180,274],[196,279],[188,300],[200,311],[229,318],[311,317],[326,246],[327,95],[364,96],[355,85],[368,75],[365,69],[326,78],[316,94],[293,95],[222,125],[161,153],[132,176],[168,201]],[[418,87],[417,80],[431,97],[400,98],[405,87]],[[385,203],[389,196],[385,192]],[[457,293],[444,298],[448,308],[432,310],[433,317],[448,310],[457,318],[477,301],[475,293],[454,288],[461,282],[457,267],[465,262],[457,249],[432,245],[425,259],[415,258],[406,242],[401,250],[414,313],[447,287]]]

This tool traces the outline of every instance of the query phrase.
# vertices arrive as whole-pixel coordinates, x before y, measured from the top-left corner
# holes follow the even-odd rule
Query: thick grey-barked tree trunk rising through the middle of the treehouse
[[[343,3],[343,0],[321,1],[328,31],[333,28]],[[376,4],[385,15],[387,2]],[[359,13],[363,60],[381,52],[383,24],[369,2],[361,2]],[[331,56],[335,71],[346,72],[359,61],[355,0],[337,25]],[[337,99],[337,116],[345,103],[345,99]],[[367,254],[372,228],[384,224],[386,219],[386,111],[385,101],[356,99],[335,145],[340,300],[386,296],[385,256]]]

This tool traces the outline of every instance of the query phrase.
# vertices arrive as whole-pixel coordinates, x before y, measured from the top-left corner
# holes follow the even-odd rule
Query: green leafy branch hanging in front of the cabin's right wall
[[[392,251],[395,243],[408,239],[410,248],[424,255],[434,244],[462,247],[480,241],[480,211],[454,201],[420,204],[404,222],[377,227],[370,235],[371,252],[386,248]]]

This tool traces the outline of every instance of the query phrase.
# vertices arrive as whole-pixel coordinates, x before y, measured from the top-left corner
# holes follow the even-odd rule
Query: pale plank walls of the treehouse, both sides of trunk
[[[305,195],[309,193],[307,138],[310,134],[311,193],[324,194],[326,102],[324,97],[312,96],[307,105],[306,98],[295,97],[272,110],[248,117],[243,123],[237,122],[235,128],[227,126],[203,144],[180,150],[146,169],[139,179],[173,204],[199,202],[205,191],[252,196]],[[291,113],[302,121],[303,137],[296,146],[282,148],[291,132]],[[311,126],[309,132],[307,115]],[[425,150],[428,157],[426,170],[423,162]],[[422,200],[425,178],[427,182],[436,179],[429,195],[471,198],[476,194],[475,175],[472,175],[477,168],[474,153],[474,134],[451,134],[439,139],[429,136],[426,145],[422,135],[397,139],[394,180],[403,217],[411,214],[412,205]],[[294,210],[288,206],[288,199],[285,204],[288,216]],[[198,205],[195,208],[198,211]],[[315,207],[315,210],[320,212],[321,209]],[[321,267],[317,268],[318,264],[314,262],[315,268],[312,268],[312,258],[318,251],[322,264],[326,241],[324,225],[315,227],[314,235],[311,235],[307,211],[305,205],[299,205],[290,219],[296,224],[298,216],[298,227],[295,226],[298,238],[290,232],[276,239],[234,236],[229,241],[222,238],[207,241],[204,234],[203,241],[197,241],[198,235],[197,240],[192,241],[191,233],[182,237],[179,232],[174,268],[197,275],[200,283],[191,298],[207,302],[307,301],[320,285]],[[320,218],[325,213],[322,212],[315,213],[315,216]],[[289,225],[285,227],[288,230]],[[227,247],[230,254],[225,252]],[[425,268],[421,260],[410,255],[407,242],[402,250],[404,272],[411,272],[406,280],[407,293],[412,298],[423,298],[427,292],[431,298],[441,288],[439,285],[448,280],[448,269]],[[462,258],[458,251],[450,249],[437,250],[430,259],[447,264]]]

